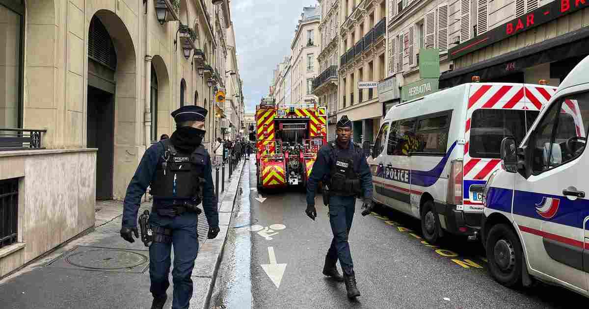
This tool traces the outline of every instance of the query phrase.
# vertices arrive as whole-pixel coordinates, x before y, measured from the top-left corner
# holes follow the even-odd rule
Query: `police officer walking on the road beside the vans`
[[[336,140],[323,145],[317,153],[307,182],[305,212],[313,220],[317,217],[315,191],[317,183],[323,181],[323,194],[329,195],[329,223],[333,232],[333,240],[325,256],[323,274],[337,281],[345,281],[348,298],[354,298],[360,295],[360,291],[356,287],[348,235],[352,228],[356,197],[363,197],[363,208],[372,208],[372,174],[362,148],[350,140],[352,122],[346,115],[337,122],[336,132]],[[329,193],[325,192],[327,188]],[[343,277],[337,271],[338,259]]]

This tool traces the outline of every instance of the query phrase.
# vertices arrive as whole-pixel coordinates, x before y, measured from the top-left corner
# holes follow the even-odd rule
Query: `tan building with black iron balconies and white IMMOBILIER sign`
[[[340,0],[339,16],[337,117],[352,120],[355,142],[372,142],[383,116],[376,85],[387,73],[386,1]]]

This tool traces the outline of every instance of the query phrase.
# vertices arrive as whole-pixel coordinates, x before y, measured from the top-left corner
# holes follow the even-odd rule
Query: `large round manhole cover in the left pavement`
[[[117,249],[95,249],[74,253],[65,260],[77,267],[94,270],[122,270],[147,262],[147,257],[137,252]]]

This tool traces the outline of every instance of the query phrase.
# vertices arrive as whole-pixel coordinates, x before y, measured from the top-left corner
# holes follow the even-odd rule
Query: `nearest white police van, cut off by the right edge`
[[[537,278],[589,296],[588,69],[585,58],[522,141],[502,141],[484,187],[488,270],[508,287]]]

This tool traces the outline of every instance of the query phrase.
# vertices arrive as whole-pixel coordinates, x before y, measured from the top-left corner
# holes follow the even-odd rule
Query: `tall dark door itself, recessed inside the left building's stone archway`
[[[114,98],[117,54],[104,24],[96,16],[88,31],[87,146],[98,148],[96,198],[112,198],[114,162]]]

